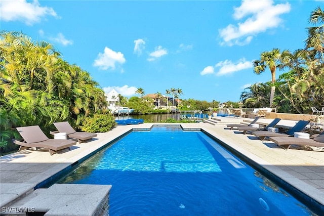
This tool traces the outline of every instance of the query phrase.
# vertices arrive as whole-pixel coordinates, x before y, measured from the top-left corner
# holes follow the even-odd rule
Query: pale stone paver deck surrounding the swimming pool
[[[252,119],[241,118],[237,119],[237,122],[243,120]],[[269,123],[272,119],[259,121]],[[281,120],[277,126],[291,127],[295,123],[296,121]],[[32,194],[37,185],[48,181],[58,172],[69,168],[71,164],[98,152],[102,146],[118,139],[133,128],[150,128],[153,124],[164,123],[116,126],[108,133],[98,133],[98,136],[90,142],[77,143],[70,150],[62,150],[52,156],[47,150],[23,150],[0,157],[0,206],[19,206],[24,200],[23,197]],[[261,141],[253,135],[243,135],[235,129],[230,130],[226,124],[212,125],[200,122],[182,123],[181,126],[185,129],[203,129],[324,205],[324,148],[313,147],[314,151],[310,151],[301,147],[291,147],[285,150],[271,141]],[[33,207],[32,204],[29,206]],[[324,209],[322,210],[324,212]],[[75,213],[75,208],[70,211],[71,214]],[[65,213],[64,215],[68,215]]]

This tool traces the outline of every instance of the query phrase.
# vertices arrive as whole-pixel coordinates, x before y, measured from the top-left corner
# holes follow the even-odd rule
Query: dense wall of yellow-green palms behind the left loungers
[[[39,125],[45,132],[54,121],[76,126],[106,106],[87,71],[21,32],[0,31],[0,93],[2,144],[18,137],[17,126]]]

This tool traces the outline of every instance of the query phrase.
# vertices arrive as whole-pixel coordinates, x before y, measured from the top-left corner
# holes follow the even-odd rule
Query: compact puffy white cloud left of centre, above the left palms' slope
[[[93,66],[99,67],[101,70],[108,70],[109,68],[115,69],[116,64],[124,64],[126,59],[124,54],[115,52],[108,47],[105,47],[104,53],[99,53],[97,59],[93,63]]]

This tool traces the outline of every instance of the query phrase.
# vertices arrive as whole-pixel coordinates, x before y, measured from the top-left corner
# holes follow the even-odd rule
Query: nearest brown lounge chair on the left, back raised
[[[20,145],[19,150],[36,148],[36,150],[41,148],[46,148],[49,150],[50,154],[53,155],[59,150],[69,148],[76,144],[72,140],[54,140],[49,139],[42,131],[38,125],[17,127],[17,131],[23,138],[23,141],[12,140],[13,143]]]

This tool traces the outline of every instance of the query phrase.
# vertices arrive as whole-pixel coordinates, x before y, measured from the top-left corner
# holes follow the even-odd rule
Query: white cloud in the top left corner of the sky
[[[52,8],[41,7],[37,0],[27,3],[26,0],[2,0],[0,1],[1,21],[21,21],[27,25],[40,22],[47,15],[57,17]]]

